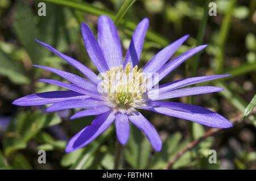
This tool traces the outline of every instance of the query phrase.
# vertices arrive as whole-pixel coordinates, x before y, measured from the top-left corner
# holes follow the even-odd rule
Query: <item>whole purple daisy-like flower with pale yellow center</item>
[[[222,91],[220,87],[197,86],[186,87],[195,83],[210,81],[228,75],[212,75],[192,77],[170,82],[159,87],[158,82],[171,73],[177,66],[193,56],[207,45],[192,48],[187,52],[168,61],[176,50],[188,38],[181,37],[158,52],[143,69],[138,69],[144,37],[148,28],[148,19],[143,19],[135,29],[129,49],[123,61],[122,45],[117,29],[108,16],[98,19],[98,41],[87,24],[82,23],[81,31],[89,57],[93,61],[101,76],[82,65],[79,61],[60,53],[46,43],[38,41],[57,56],[80,70],[85,78],[63,70],[46,66],[34,65],[63,77],[70,83],[52,79],[40,79],[52,85],[64,87],[68,91],[51,91],[31,94],[13,102],[18,106],[37,106],[52,104],[48,112],[67,110],[72,108],[86,108],[75,113],[71,119],[97,115],[91,125],[82,129],[68,142],[66,151],[71,152],[88,145],[104,132],[113,122],[118,141],[125,145],[129,139],[129,121],[138,127],[148,138],[155,151],[160,151],[162,141],[152,124],[138,111],[149,110],[163,115],[195,121],[209,127],[229,128],[232,123],[218,113],[199,106],[184,103],[160,101],[179,98],[181,96],[207,94]],[[151,74],[148,81],[146,74]],[[119,78],[117,78],[119,76]],[[117,78],[117,79],[112,79]],[[149,84],[148,82],[153,82]],[[100,88],[100,89],[99,89]],[[132,91],[131,91],[132,90]],[[157,93],[157,94],[156,94]]]

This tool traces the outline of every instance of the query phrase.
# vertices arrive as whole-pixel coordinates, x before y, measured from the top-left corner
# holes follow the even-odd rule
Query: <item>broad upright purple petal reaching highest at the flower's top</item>
[[[123,64],[122,45],[112,19],[102,15],[98,18],[98,43],[109,68]]]

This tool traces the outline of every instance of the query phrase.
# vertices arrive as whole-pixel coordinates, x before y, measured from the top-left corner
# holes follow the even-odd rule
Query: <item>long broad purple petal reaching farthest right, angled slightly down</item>
[[[214,128],[230,128],[232,123],[216,112],[207,110],[206,108],[193,106],[190,104],[176,102],[153,101],[151,106],[142,109],[162,113],[168,116],[178,117],[194,121],[199,124],[207,125]]]

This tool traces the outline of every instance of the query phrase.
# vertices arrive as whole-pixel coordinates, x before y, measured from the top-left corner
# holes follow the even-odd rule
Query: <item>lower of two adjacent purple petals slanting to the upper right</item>
[[[168,62],[159,71],[159,81],[162,80],[164,77],[166,77],[166,75],[168,75],[172,70],[177,68],[177,66],[179,66],[182,62],[184,62],[188,58],[192,57],[194,54],[200,52],[205,47],[207,47],[207,45],[201,45],[199,47],[192,48],[192,49],[188,50],[187,52],[181,54],[180,56],[175,57],[170,62]]]

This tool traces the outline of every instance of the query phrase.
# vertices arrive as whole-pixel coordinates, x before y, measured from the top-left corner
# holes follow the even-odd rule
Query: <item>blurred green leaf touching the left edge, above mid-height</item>
[[[6,53],[0,49],[0,74],[5,75],[11,82],[16,84],[26,84],[29,79],[24,73],[24,69],[20,62],[10,58]]]

